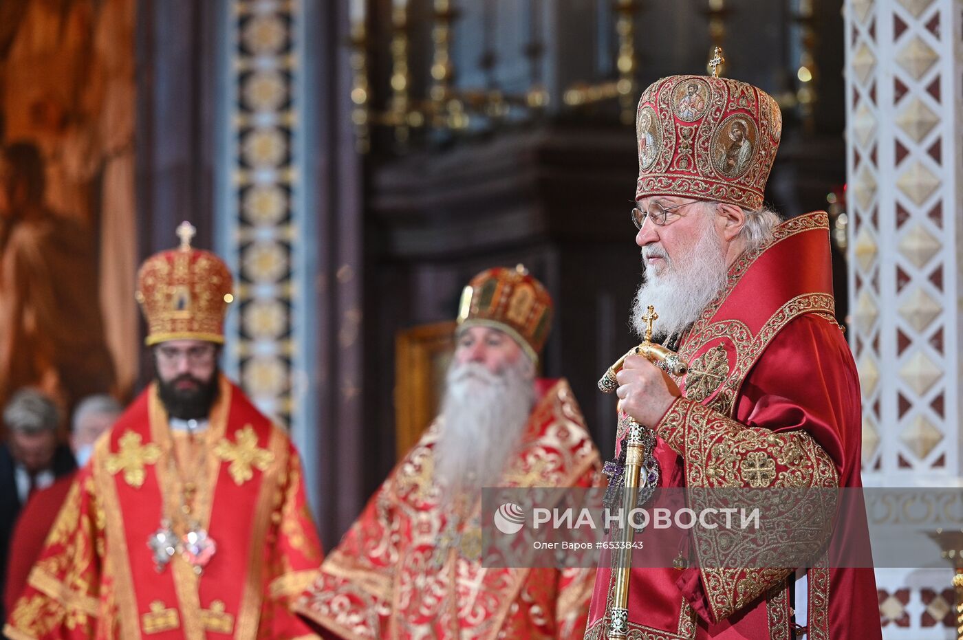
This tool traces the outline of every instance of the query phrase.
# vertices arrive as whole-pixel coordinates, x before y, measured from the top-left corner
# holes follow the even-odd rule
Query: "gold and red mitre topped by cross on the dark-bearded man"
[[[181,222],[180,246],[155,253],[138,271],[135,297],[147,321],[148,346],[168,340],[224,342],[234,280],[221,258],[191,246],[195,233],[190,222]]]

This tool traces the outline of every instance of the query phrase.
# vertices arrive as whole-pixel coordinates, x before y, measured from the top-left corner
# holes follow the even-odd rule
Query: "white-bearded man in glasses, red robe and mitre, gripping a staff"
[[[676,88],[692,84],[708,96],[694,120],[673,104]],[[654,114],[662,147],[654,162],[639,158],[632,218],[645,279],[635,323],[641,334],[655,307],[656,337],[690,363],[673,378],[634,355],[617,374],[621,423],[656,436],[647,477],[690,495],[860,487],[860,390],[835,320],[827,216],[783,220],[763,205],[778,105],[728,78],[671,76],[642,93],[643,113]],[[748,159],[735,168],[726,163],[734,127]],[[621,481],[617,463],[610,472]],[[798,571],[800,588],[797,567],[699,562],[709,547],[697,531],[676,562],[631,570],[624,609],[613,606],[616,572],[603,564],[586,639],[880,638],[872,569],[833,566],[823,553]],[[826,535],[830,550],[853,531]],[[778,554],[780,543],[760,553]]]

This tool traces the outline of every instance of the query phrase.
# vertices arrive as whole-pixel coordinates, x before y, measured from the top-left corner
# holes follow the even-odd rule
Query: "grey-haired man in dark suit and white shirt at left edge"
[[[4,408],[8,440],[0,445],[0,592],[7,576],[13,525],[30,495],[49,487],[77,465],[66,445],[57,443],[60,422],[53,401],[33,389],[21,389]],[[2,609],[0,604],[0,609]],[[0,611],[6,617],[5,611]]]

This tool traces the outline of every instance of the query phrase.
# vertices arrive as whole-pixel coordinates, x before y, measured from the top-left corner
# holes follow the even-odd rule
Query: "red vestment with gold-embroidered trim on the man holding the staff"
[[[790,219],[743,253],[684,336],[683,396],[655,427],[659,486],[861,486],[859,382],[834,318],[827,222]],[[830,547],[851,535],[837,529]],[[814,564],[805,638],[878,640],[872,569]],[[628,637],[790,640],[792,571],[633,569]],[[611,609],[612,570],[600,568],[586,640],[608,636]]]

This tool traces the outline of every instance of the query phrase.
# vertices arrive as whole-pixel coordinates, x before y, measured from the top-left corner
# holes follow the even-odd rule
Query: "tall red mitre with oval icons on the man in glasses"
[[[779,105],[764,90],[715,75],[663,78],[638,101],[636,199],[678,195],[761,209],[781,133]]]

